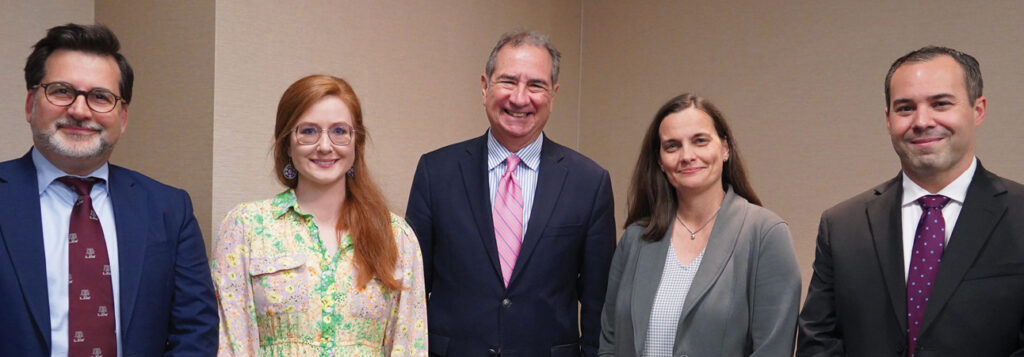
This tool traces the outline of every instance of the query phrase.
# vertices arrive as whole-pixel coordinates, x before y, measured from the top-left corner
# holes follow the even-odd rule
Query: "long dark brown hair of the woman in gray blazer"
[[[644,135],[640,145],[640,158],[637,158],[633,180],[630,182],[626,199],[629,213],[624,227],[629,227],[633,223],[646,226],[642,234],[644,240],[660,240],[672,226],[672,220],[675,219],[679,207],[679,203],[676,202],[676,189],[658,166],[662,153],[662,122],[666,117],[690,107],[697,108],[711,117],[715,132],[729,148],[729,159],[722,168],[722,188],[727,189],[731,186],[736,194],[754,205],[761,206],[761,198],[754,193],[754,187],[746,179],[746,170],[743,169],[743,161],[739,157],[736,138],[732,136],[729,125],[725,123],[725,117],[708,99],[683,93],[670,99],[654,115],[654,120],[647,128],[647,134]]]

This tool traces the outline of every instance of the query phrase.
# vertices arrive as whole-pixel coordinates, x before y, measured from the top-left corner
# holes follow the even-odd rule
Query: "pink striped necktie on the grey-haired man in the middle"
[[[515,181],[515,168],[519,163],[519,157],[514,154],[506,159],[505,174],[498,181],[498,192],[495,194],[495,237],[498,239],[498,258],[502,263],[502,279],[506,287],[522,247],[522,189]]]

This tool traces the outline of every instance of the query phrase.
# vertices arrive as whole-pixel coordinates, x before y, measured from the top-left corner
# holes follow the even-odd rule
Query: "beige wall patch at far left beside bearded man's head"
[[[0,0],[0,161],[20,158],[32,147],[25,121],[25,60],[46,29],[92,23],[92,1]]]

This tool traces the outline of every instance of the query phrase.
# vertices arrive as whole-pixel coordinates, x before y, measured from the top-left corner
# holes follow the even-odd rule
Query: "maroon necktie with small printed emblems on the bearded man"
[[[68,232],[68,355],[116,357],[111,263],[89,196],[100,180],[65,176],[57,181],[78,194]]]

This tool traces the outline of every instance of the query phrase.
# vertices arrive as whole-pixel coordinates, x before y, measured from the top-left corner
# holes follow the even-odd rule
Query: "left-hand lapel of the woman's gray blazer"
[[[644,341],[647,339],[647,325],[650,323],[650,311],[654,307],[654,296],[662,283],[662,273],[665,272],[665,259],[669,255],[672,243],[672,226],[665,232],[662,240],[649,242],[640,238],[638,241],[636,275],[633,276],[634,289],[630,309],[633,316],[633,341],[636,356],[640,356]]]

